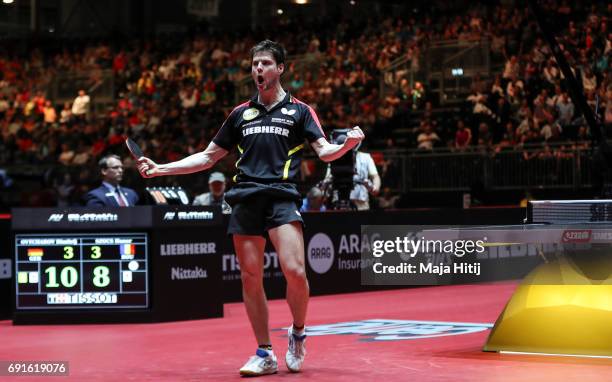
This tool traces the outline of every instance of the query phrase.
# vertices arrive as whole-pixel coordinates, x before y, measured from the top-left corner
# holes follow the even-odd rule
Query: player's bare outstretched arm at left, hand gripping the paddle
[[[138,171],[143,178],[163,175],[191,174],[211,168],[219,159],[227,155],[227,150],[211,142],[206,150],[176,162],[157,164],[147,157],[138,159]]]

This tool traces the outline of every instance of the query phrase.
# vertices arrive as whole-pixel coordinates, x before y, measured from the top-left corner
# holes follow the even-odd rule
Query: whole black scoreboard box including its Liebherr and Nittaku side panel
[[[219,206],[14,208],[11,229],[15,325],[223,316]]]

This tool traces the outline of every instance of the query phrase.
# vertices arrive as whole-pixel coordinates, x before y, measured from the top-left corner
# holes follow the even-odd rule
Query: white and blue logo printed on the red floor
[[[363,320],[309,326],[309,336],[357,334],[361,341],[401,341],[482,332],[493,324],[411,320]],[[286,329],[285,329],[286,330]]]

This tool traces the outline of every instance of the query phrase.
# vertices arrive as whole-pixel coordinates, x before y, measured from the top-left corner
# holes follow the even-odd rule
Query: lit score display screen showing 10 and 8
[[[146,233],[16,234],[16,308],[147,308],[147,251]]]

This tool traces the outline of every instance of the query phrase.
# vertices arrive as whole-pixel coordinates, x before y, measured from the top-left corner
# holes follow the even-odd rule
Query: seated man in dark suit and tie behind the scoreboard
[[[121,187],[123,164],[117,155],[107,155],[98,162],[102,185],[86,195],[87,207],[131,207],[138,203],[138,194],[131,188]]]

